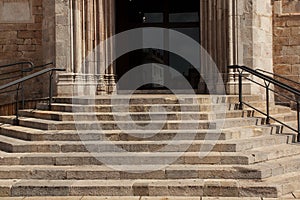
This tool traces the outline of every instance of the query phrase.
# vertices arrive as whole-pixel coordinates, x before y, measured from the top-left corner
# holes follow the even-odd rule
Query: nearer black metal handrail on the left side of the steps
[[[50,63],[46,64],[49,65]],[[52,63],[51,63],[52,64]],[[52,87],[52,80],[53,80],[53,72],[55,71],[66,71],[65,69],[59,69],[59,68],[47,68],[47,69],[43,69],[39,72],[30,74],[28,76],[25,76],[23,78],[20,78],[18,80],[12,81],[10,83],[7,83],[5,85],[0,86],[0,90],[5,90],[7,88],[10,88],[12,86],[17,86],[16,90],[12,90],[12,91],[16,91],[17,95],[16,95],[16,107],[15,107],[15,115],[16,118],[14,120],[14,124],[19,125],[19,90],[20,90],[20,85],[23,84],[25,81],[28,81],[30,79],[36,78],[38,76],[41,76],[43,74],[49,73],[50,72],[50,76],[49,76],[49,110],[51,110],[51,106],[52,106],[52,102],[53,102],[53,87]],[[12,92],[11,91],[11,92]]]

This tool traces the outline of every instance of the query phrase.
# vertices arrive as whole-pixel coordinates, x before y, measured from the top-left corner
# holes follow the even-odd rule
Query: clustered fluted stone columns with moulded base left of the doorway
[[[107,69],[105,66],[112,59],[114,48],[98,46],[115,33],[114,0],[66,2],[69,33],[64,32],[63,38],[71,48],[68,49],[69,61],[64,62],[67,73],[59,74],[58,95],[111,93],[115,86],[115,70],[114,66]]]

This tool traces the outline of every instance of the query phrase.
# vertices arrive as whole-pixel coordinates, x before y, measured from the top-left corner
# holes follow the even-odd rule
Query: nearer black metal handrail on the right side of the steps
[[[289,92],[293,93],[295,96],[299,96],[299,97],[300,97],[300,90],[293,88],[285,83],[282,83],[270,76],[267,76],[267,75],[259,72],[259,70],[254,70],[254,69],[251,69],[246,66],[232,65],[232,66],[228,66],[228,68],[238,70],[238,73],[239,73],[239,109],[242,110],[243,105],[247,105],[251,108],[254,108],[253,106],[249,105],[248,103],[243,102],[243,72],[246,71],[246,72],[262,79],[265,84],[265,85],[260,84],[252,79],[245,77],[247,80],[249,80],[255,84],[258,84],[266,89],[266,113],[261,110],[258,110],[256,108],[254,108],[254,109],[267,117],[266,118],[267,124],[270,124],[270,119],[272,119],[272,120],[280,123],[281,125],[291,129],[292,131],[295,131],[297,133],[297,141],[300,142],[300,99],[297,98],[296,100],[293,100],[294,102],[297,103],[297,125],[298,125],[297,129],[294,129],[293,127],[285,124],[284,122],[277,120],[270,116],[270,95],[269,95],[270,91],[274,91],[270,88],[270,84],[273,84],[281,89],[289,91]],[[279,93],[277,93],[277,94],[279,94]],[[281,94],[279,94],[279,95],[281,95]]]

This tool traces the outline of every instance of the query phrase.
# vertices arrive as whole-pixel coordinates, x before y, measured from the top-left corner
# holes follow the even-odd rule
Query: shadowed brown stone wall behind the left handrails
[[[43,29],[48,23],[44,20],[44,11],[43,0],[0,0],[0,65],[19,61],[31,61],[36,65],[45,63],[43,48],[49,48],[44,42],[46,35]],[[19,69],[1,69],[0,74]],[[12,80],[0,81],[0,85]],[[48,93],[48,76],[27,81],[24,88],[26,99],[45,97]],[[15,93],[2,94],[0,98],[1,105],[11,103]]]

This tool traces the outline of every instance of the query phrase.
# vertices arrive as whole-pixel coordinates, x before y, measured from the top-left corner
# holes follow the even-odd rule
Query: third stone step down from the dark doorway
[[[209,112],[115,112],[115,113],[71,113],[71,112],[57,112],[57,111],[43,111],[43,110],[20,110],[20,116],[30,118],[40,118],[47,120],[57,121],[73,121],[81,120],[85,121],[123,121],[126,119],[132,119],[134,121],[147,121],[147,120],[180,120],[180,119],[192,119],[192,120],[214,120],[224,118],[238,118],[238,117],[251,117],[253,112],[251,110],[234,110],[221,113],[209,113]]]

